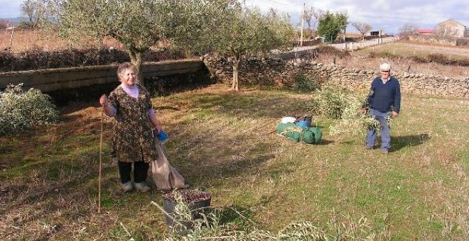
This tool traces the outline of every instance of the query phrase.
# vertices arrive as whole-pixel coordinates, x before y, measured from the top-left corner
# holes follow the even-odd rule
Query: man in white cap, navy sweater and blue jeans
[[[391,76],[391,65],[388,63],[379,65],[379,70],[381,70],[381,77],[376,77],[372,82],[370,94],[367,98],[367,106],[371,108],[370,116],[379,120],[381,125],[381,151],[387,154],[391,147],[391,134],[389,132],[387,117],[389,116],[389,111],[392,118],[399,116],[401,89],[399,81]],[[363,111],[366,112],[367,108],[363,108]],[[367,130],[367,149],[374,147],[377,135],[376,130],[370,128]]]

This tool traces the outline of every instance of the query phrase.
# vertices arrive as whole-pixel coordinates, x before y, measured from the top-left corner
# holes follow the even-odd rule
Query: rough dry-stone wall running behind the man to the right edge
[[[229,59],[205,59],[210,73],[221,82],[231,82],[232,62]],[[323,65],[310,60],[245,60],[241,63],[239,80],[251,84],[293,84],[299,74],[316,75],[320,82],[332,82],[340,86],[368,89],[372,79],[379,76],[376,70],[347,69],[340,65]],[[469,97],[469,77],[448,78],[432,74],[393,72],[399,79],[404,93],[434,96]]]

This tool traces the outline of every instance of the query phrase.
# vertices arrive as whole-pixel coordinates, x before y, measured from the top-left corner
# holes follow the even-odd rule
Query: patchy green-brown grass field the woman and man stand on
[[[276,232],[309,220],[341,240],[469,239],[469,101],[404,94],[392,152],[364,137],[321,145],[271,133],[282,116],[308,113],[313,94],[208,86],[153,99],[168,133],[168,158],[212,205],[234,206]],[[63,108],[63,122],[0,138],[0,237],[37,240],[161,240],[161,194],[122,194],[105,123],[102,213],[97,213],[100,110]],[[122,225],[121,225],[122,223]]]

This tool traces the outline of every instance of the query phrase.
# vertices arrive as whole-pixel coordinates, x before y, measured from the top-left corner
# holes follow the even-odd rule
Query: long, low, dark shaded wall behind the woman
[[[153,94],[193,84],[211,83],[207,67],[200,60],[149,62],[142,66],[145,85]],[[70,101],[96,99],[120,83],[117,65],[72,67],[0,73],[0,90],[8,84],[21,84],[49,94],[58,105]]]

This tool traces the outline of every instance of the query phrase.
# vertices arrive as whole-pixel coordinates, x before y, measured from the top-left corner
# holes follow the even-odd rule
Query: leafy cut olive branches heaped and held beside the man
[[[345,89],[339,86],[325,85],[316,91],[314,105],[318,113],[333,119],[330,135],[357,135],[363,129],[379,130],[379,121],[367,113],[362,113],[367,93]],[[388,125],[390,118],[387,118]]]

